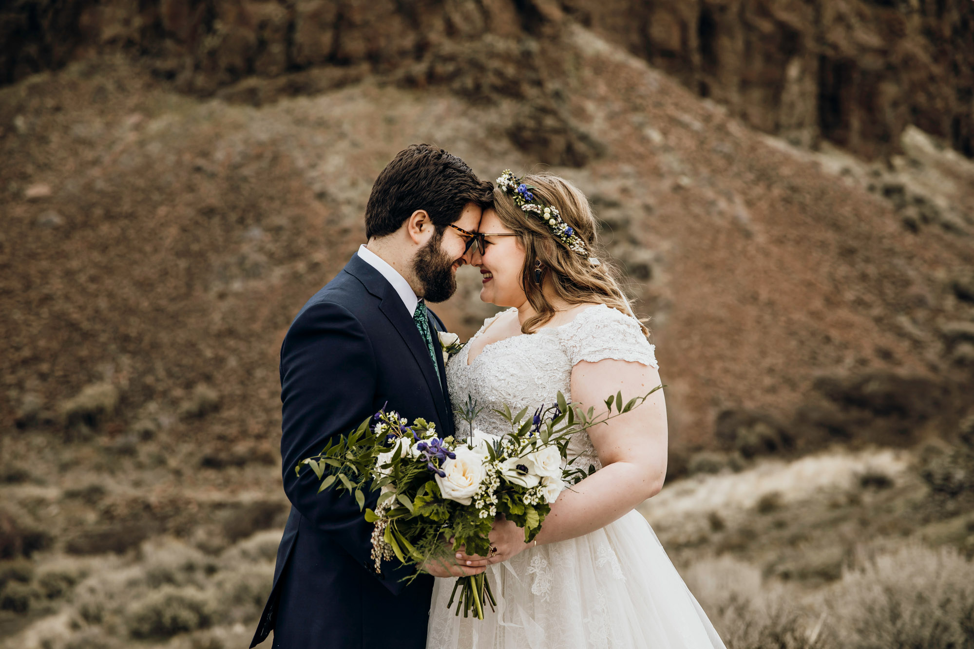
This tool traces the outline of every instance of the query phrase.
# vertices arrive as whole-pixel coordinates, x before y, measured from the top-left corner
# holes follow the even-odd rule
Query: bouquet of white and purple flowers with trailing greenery
[[[591,466],[587,472],[562,468],[570,459],[573,434],[629,412],[659,387],[626,403],[621,393],[611,396],[605,401],[608,413],[598,416],[593,408],[586,412],[566,403],[561,392],[555,404],[542,405],[527,418],[527,408],[513,414],[505,405],[497,411],[510,424],[503,436],[473,427],[482,409],[468,397],[462,411],[468,422],[465,441],[440,439],[435,425],[425,419],[410,424],[383,408],[355,431],[329,440],[323,451],[302,460],[295,471],[300,475],[303,466],[310,467],[321,481],[318,492],[333,487],[354,494],[365,520],[375,525],[376,572],[384,559],[423,566],[446,562],[461,547],[486,557],[491,550],[488,534],[497,517],[522,527],[525,542],[530,542],[561,490],[594,471]],[[380,491],[374,510],[365,509],[366,489]],[[497,603],[485,574],[458,578],[449,606],[458,590],[457,615],[463,610],[468,617],[472,611],[482,620],[485,606],[493,610]]]

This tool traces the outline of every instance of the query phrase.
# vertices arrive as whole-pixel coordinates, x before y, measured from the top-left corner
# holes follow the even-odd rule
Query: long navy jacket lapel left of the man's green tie
[[[393,329],[395,329],[395,332],[402,339],[402,342],[406,344],[406,347],[409,348],[417,365],[420,366],[420,370],[423,372],[423,378],[426,379],[427,386],[430,388],[430,394],[433,404],[436,407],[440,424],[446,428],[446,431],[448,431],[447,434],[452,434],[453,416],[450,415],[443,387],[439,380],[436,379],[436,370],[432,365],[430,350],[427,348],[426,341],[423,340],[420,330],[416,327],[416,322],[413,320],[412,314],[402,304],[402,299],[395,292],[393,285],[382,276],[381,272],[363,262],[358,255],[355,255],[345,266],[345,270],[355,275],[369,293],[379,298],[379,310],[389,319],[393,325]],[[439,365],[442,366],[441,361]],[[443,376],[442,372],[440,376]]]

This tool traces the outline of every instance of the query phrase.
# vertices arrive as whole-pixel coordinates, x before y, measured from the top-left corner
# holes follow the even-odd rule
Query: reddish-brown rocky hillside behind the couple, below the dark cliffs
[[[974,358],[974,164],[917,129],[888,163],[797,149],[569,29],[544,81],[557,114],[368,77],[247,107],[126,57],[2,90],[6,421],[273,449],[289,319],[361,239],[378,170],[427,140],[484,177],[571,162],[555,169],[655,318],[680,444],[952,430]],[[490,312],[471,301],[444,306],[467,332]]]

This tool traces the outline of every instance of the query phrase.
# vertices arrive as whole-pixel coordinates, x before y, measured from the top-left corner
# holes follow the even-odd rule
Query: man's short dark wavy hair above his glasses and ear
[[[469,203],[494,204],[494,186],[479,180],[464,162],[430,144],[413,144],[386,165],[365,206],[365,235],[385,236],[424,209],[437,232],[460,218]]]

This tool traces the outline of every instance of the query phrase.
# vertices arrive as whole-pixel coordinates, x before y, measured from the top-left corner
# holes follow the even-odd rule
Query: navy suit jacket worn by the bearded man
[[[431,313],[431,330],[443,331]],[[432,577],[401,581],[415,568],[386,562],[376,574],[372,524],[355,499],[318,493],[302,459],[328,438],[349,433],[388,403],[422,416],[443,437],[453,434],[446,374],[433,333],[436,370],[412,314],[392,284],[358,255],[306,304],[281,344],[281,458],[291,501],[274,586],[251,647],[274,631],[285,649],[423,649]],[[366,498],[374,507],[378,493]]]

